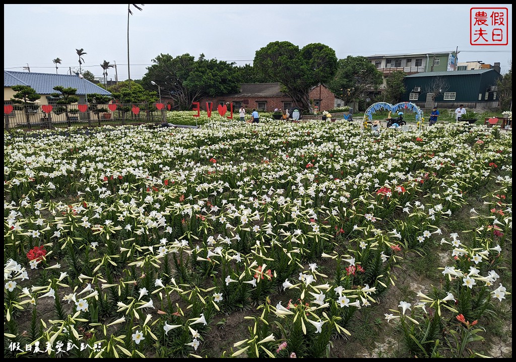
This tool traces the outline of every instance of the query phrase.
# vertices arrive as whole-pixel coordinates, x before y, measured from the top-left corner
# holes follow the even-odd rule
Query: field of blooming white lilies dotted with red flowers
[[[497,129],[70,133],[4,137],[5,355],[209,355],[217,321],[247,311],[223,356],[324,357],[394,266],[439,246],[445,282],[385,318],[412,355],[459,357],[508,293],[512,140]],[[487,185],[476,227],[449,230]]]

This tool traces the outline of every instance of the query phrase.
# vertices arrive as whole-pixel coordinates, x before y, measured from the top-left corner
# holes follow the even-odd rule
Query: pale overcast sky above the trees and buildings
[[[137,4],[138,5],[138,4]],[[471,7],[508,8],[508,45],[470,45]],[[512,5],[131,5],[131,78],[140,79],[159,54],[188,53],[252,64],[256,50],[288,41],[299,48],[322,43],[337,58],[455,51],[459,62],[512,61]],[[127,4],[4,4],[4,70],[59,74],[77,68],[101,77],[104,60],[117,65],[108,78],[127,79]]]

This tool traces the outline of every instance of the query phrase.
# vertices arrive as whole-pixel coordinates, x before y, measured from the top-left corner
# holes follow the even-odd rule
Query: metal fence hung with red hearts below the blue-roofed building
[[[7,131],[165,123],[166,119],[166,110],[155,104],[4,105]]]

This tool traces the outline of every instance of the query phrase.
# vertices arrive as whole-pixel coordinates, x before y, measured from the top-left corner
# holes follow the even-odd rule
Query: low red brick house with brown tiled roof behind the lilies
[[[335,107],[335,94],[324,84],[313,87],[309,97],[313,106],[317,106],[319,111],[327,111]],[[288,110],[295,106],[292,98],[281,92],[281,83],[241,84],[239,93],[201,99],[199,106],[203,111],[206,110],[206,102],[212,102],[212,111],[217,110],[219,105],[233,103],[233,113],[237,113],[240,106],[244,106],[247,111],[256,108],[264,112],[272,112],[276,108]]]

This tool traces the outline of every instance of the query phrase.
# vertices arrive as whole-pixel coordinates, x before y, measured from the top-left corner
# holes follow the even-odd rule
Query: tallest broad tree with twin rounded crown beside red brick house
[[[276,41],[256,51],[253,67],[261,76],[283,85],[296,107],[312,111],[309,92],[333,78],[337,70],[335,50],[312,43],[299,49],[287,41]]]

